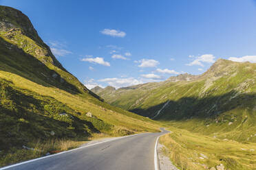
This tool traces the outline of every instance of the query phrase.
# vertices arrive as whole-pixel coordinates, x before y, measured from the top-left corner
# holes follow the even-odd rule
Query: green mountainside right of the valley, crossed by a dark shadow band
[[[202,75],[182,77],[97,94],[113,106],[176,127],[256,142],[256,64],[220,59]]]

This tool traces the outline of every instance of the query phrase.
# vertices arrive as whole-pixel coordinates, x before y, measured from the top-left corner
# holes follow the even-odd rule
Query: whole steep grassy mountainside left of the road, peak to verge
[[[39,141],[145,131],[158,125],[103,102],[63,68],[27,16],[0,6],[0,166],[27,158],[17,151]]]

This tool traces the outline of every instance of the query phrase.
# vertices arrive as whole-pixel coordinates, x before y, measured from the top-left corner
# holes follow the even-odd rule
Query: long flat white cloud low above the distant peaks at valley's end
[[[105,78],[102,80],[98,80],[98,82],[106,82],[109,86],[114,86],[115,88],[126,87],[126,86],[134,86],[136,84],[142,84],[141,80],[137,80],[134,77],[128,78]]]

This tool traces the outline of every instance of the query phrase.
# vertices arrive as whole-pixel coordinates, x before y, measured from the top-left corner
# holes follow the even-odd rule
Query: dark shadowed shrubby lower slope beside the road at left
[[[79,119],[74,110],[52,97],[23,94],[3,80],[0,85],[0,150],[99,132],[92,122]]]

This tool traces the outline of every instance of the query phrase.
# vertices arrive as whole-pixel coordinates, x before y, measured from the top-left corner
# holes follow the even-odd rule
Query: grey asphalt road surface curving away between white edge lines
[[[153,170],[156,139],[165,133],[168,131],[162,129],[159,133],[121,137],[114,141],[30,160],[8,169]]]

